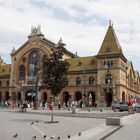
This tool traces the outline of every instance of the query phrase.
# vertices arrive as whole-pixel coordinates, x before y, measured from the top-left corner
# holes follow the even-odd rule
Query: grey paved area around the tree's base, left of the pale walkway
[[[105,124],[104,119],[60,116],[54,117],[54,120],[59,121],[59,123],[46,123],[50,119],[51,117],[47,115],[0,110],[0,139],[12,140],[15,139],[13,135],[18,133],[18,140],[31,140],[32,136],[41,140],[45,134],[48,140],[51,136],[54,136],[55,140],[58,136],[64,140],[67,139],[68,135],[72,137],[79,132],[83,133]],[[31,124],[32,122],[33,124]]]

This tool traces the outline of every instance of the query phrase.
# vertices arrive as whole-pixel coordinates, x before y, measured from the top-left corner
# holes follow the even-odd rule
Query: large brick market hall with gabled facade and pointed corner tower
[[[0,57],[0,100],[34,100],[38,86],[39,103],[49,101],[52,95],[43,83],[46,70],[43,59],[50,58],[58,46],[63,47],[63,59],[70,64],[67,86],[57,98],[61,103],[91,98],[98,106],[109,107],[112,101],[140,98],[139,72],[124,56],[110,23],[98,54],[86,57],[68,51],[62,39],[54,43],[45,38],[40,26],[33,27],[28,40],[11,51],[11,64]]]

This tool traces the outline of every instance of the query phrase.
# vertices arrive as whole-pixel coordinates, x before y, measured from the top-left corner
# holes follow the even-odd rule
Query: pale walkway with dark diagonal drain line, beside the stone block
[[[140,113],[122,118],[123,126],[99,125],[96,128],[75,135],[71,140],[139,140],[140,139]]]

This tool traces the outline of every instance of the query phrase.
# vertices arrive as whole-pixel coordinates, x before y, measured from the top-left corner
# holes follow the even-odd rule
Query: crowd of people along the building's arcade
[[[92,100],[89,101],[83,101],[83,100],[79,100],[79,101],[75,101],[75,100],[71,100],[68,102],[47,102],[47,101],[43,101],[40,103],[39,107],[42,108],[43,110],[49,109],[52,110],[52,108],[61,110],[62,108],[64,109],[68,109],[70,110],[70,108],[75,107],[75,108],[83,108],[83,107],[96,107],[97,104],[93,103]],[[34,102],[33,101],[23,101],[23,100],[13,100],[13,99],[9,99],[9,100],[2,100],[0,102],[0,107],[1,108],[12,108],[14,109],[19,108],[20,111],[26,111],[26,109],[34,109]]]

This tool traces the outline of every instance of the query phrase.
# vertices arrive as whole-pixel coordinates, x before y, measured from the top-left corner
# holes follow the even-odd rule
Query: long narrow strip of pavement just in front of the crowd
[[[4,109],[7,111],[14,111],[14,112],[19,112],[19,108],[15,109]],[[21,112],[21,113],[32,113],[32,114],[40,114],[40,115],[51,115],[51,110],[32,110],[32,109],[27,109],[26,112]],[[83,118],[101,118],[105,119],[106,117],[123,117],[123,116],[128,116],[128,112],[114,112],[109,109],[103,109],[103,111],[100,111],[100,109],[92,109],[91,111],[88,110],[81,110],[81,109],[76,109],[76,113],[72,113],[72,110],[67,110],[67,109],[54,109],[53,110],[54,116],[63,116],[63,117],[83,117]]]

